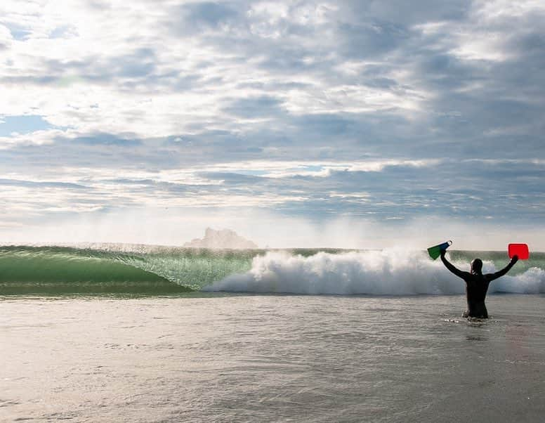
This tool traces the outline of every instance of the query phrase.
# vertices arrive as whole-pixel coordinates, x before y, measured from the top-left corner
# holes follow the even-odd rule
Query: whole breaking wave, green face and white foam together
[[[504,252],[449,252],[483,271],[508,263]],[[339,295],[462,294],[464,283],[426,252],[220,250],[144,245],[0,247],[0,295],[253,292]],[[545,293],[545,254],[532,253],[489,292]]]

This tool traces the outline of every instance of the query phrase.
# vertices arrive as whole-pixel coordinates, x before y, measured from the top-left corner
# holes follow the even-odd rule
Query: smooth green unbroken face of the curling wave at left
[[[257,251],[0,247],[0,295],[190,292],[251,268]]]

